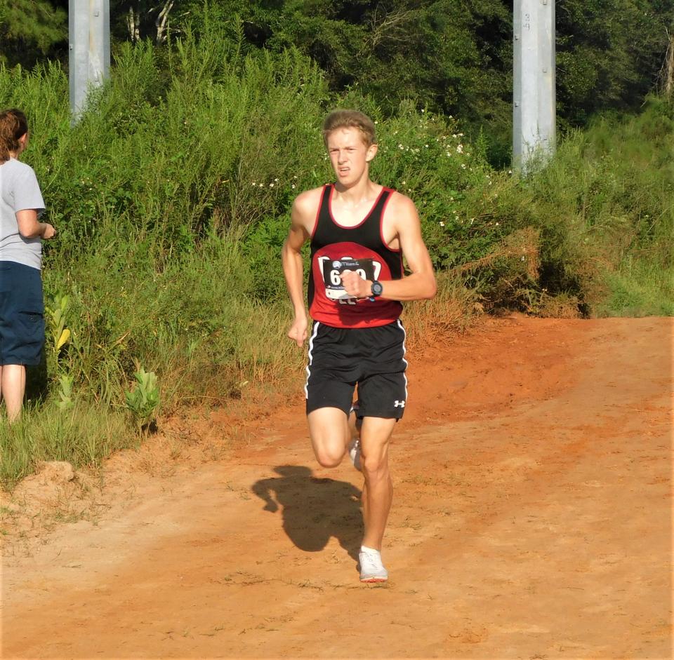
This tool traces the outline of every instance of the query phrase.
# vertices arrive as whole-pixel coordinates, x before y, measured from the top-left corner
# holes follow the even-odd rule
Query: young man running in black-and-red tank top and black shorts
[[[282,250],[295,318],[288,336],[308,336],[300,248],[310,239],[307,418],[317,461],[338,466],[351,440],[355,386],[365,534],[360,579],[388,579],[381,542],[391,506],[388,445],[407,402],[401,301],[435,295],[435,275],[412,201],[369,178],[377,153],[372,121],[337,110],[323,124],[336,183],[300,194]],[[402,257],[409,275],[403,274]]]

